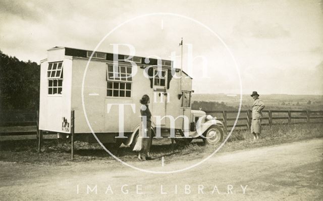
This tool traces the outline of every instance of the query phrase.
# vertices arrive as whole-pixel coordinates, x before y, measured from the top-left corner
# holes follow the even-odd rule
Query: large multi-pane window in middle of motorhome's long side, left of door
[[[107,66],[106,96],[131,97],[132,67]]]

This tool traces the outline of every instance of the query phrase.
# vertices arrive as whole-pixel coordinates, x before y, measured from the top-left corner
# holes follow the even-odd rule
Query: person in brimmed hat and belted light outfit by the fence
[[[261,111],[264,108],[263,102],[259,99],[257,91],[253,91],[251,97],[254,99],[252,105],[252,122],[251,122],[251,133],[253,134],[253,140],[258,139],[261,133]]]

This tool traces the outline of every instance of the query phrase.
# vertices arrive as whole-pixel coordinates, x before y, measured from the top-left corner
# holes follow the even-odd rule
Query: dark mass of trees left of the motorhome
[[[0,51],[0,110],[36,110],[39,105],[40,67]]]

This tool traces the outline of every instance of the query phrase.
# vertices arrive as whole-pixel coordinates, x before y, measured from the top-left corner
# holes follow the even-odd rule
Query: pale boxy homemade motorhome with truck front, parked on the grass
[[[169,137],[171,130],[175,130],[177,135],[183,136],[187,131],[190,137],[200,137],[195,125],[199,118],[204,118],[202,123],[208,124],[201,125],[198,130],[207,136],[205,142],[221,141],[222,123],[205,120],[204,112],[191,110],[192,78],[173,68],[172,61],[92,53],[68,47],[48,49],[48,57],[40,62],[39,130],[68,136],[71,111],[74,110],[76,140],[95,141],[87,117],[102,143],[116,147],[122,142],[130,145],[136,140],[141,122],[139,100],[143,94],[148,94],[155,135],[156,130],[160,130],[161,137]],[[176,78],[181,75],[182,79]],[[125,138],[118,138],[122,131],[119,126],[122,115]],[[158,121],[156,116],[167,117]],[[184,125],[185,118],[180,116],[187,117],[189,126]],[[172,117],[176,119],[175,123]]]

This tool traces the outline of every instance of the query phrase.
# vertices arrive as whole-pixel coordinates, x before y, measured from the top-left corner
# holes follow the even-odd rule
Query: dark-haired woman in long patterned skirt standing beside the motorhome
[[[150,103],[149,96],[143,95],[140,99],[142,104],[140,108],[141,126],[139,128],[139,136],[133,150],[139,151],[138,160],[143,161],[145,156],[146,160],[151,160],[149,150],[151,145],[151,113],[148,108]]]

